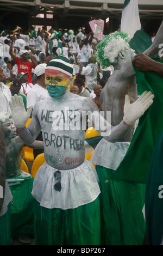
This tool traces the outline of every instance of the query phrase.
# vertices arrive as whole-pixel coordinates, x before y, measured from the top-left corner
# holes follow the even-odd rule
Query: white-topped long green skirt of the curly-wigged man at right
[[[129,142],[110,143],[104,138],[91,157],[99,178],[102,245],[142,245],[145,220],[145,184],[111,179],[129,148]]]

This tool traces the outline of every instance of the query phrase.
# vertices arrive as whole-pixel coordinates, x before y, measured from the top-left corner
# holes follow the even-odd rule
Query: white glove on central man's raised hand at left
[[[11,97],[11,101],[9,101],[9,105],[11,108],[14,125],[18,128],[25,127],[30,117],[30,113],[32,112],[33,106],[30,106],[26,112],[26,109],[24,108],[22,96],[17,96],[16,94]]]

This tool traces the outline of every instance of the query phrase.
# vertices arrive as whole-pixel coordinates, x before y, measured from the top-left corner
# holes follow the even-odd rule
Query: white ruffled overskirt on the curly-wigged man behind
[[[102,138],[97,144],[91,162],[97,166],[103,166],[116,170],[127,153],[130,142],[111,143]]]

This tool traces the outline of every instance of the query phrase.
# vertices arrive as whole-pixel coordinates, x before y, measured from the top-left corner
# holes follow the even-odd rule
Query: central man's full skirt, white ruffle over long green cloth
[[[34,178],[35,245],[100,245],[95,168],[85,159],[77,168],[61,170],[60,192],[54,189],[56,170],[45,162]]]

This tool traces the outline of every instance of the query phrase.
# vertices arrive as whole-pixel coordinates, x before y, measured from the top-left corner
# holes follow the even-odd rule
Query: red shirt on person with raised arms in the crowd
[[[17,74],[20,74],[21,72],[28,72],[28,83],[32,83],[32,69],[34,68],[33,63],[30,63],[29,60],[24,63],[22,59],[15,56],[14,62],[17,64],[18,72]]]

